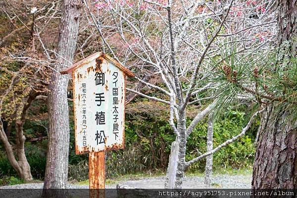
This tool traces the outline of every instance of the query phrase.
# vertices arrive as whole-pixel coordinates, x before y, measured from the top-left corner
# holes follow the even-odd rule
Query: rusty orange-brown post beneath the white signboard
[[[105,152],[89,153],[90,198],[105,198]]]

